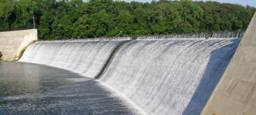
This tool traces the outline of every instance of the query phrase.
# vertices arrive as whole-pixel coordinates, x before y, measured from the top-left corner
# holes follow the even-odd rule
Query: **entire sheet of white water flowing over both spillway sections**
[[[199,115],[240,40],[35,42],[19,61],[70,69],[89,77],[104,71],[99,74],[102,82],[150,115]]]

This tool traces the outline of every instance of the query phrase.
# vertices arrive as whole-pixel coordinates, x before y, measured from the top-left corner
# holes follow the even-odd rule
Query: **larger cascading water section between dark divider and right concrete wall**
[[[150,115],[199,115],[240,40],[134,40],[100,80]]]

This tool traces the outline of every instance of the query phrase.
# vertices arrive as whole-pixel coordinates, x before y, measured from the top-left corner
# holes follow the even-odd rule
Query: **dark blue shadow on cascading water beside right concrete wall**
[[[241,39],[234,39],[232,40],[232,44],[223,46],[222,48],[218,48],[211,52],[205,72],[182,115],[200,115],[232,59],[240,40]]]

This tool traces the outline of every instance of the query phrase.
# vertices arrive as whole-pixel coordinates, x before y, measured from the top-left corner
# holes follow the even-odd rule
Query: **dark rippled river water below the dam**
[[[0,115],[143,114],[99,80],[23,62],[0,62]]]

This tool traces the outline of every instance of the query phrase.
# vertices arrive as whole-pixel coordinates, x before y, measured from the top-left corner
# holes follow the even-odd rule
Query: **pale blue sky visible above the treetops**
[[[87,0],[83,0],[86,2]],[[138,2],[151,2],[152,0],[123,0],[126,2],[138,1]],[[158,1],[158,0],[156,0]],[[201,1],[201,0],[193,0],[193,1]],[[202,0],[202,1],[217,1],[221,3],[232,3],[232,4],[241,4],[242,6],[250,5],[256,8],[256,0]]]

